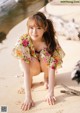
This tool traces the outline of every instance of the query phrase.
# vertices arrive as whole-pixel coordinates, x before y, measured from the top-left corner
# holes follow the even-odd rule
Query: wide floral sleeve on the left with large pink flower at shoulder
[[[26,63],[31,61],[30,39],[27,34],[21,36],[13,48],[13,55],[18,59],[23,59]]]

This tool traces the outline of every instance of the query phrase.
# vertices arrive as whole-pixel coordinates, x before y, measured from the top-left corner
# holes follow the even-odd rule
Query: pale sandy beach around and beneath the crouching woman
[[[51,2],[46,10],[49,14],[60,16],[67,21],[72,18],[75,18],[76,22],[80,21],[79,5],[54,5]],[[0,110],[1,107],[6,106],[7,113],[80,113],[80,96],[60,92],[64,89],[61,84],[80,91],[80,85],[71,80],[72,69],[80,60],[80,41],[66,40],[62,36],[59,36],[58,40],[66,55],[63,59],[63,67],[56,73],[55,105],[49,106],[44,102],[47,90],[44,88],[43,73],[41,73],[33,78],[32,97],[36,103],[35,107],[29,111],[21,110],[24,91],[19,92],[19,89],[23,86],[23,74],[18,60],[12,55],[12,48],[17,38],[26,32],[26,21],[27,19],[15,26],[7,35],[7,39],[0,44]]]

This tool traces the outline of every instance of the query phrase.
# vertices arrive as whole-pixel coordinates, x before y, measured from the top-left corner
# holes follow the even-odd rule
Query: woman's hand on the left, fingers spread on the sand
[[[31,107],[35,106],[35,103],[31,98],[27,98],[24,100],[24,103],[21,106],[23,111],[29,110]]]

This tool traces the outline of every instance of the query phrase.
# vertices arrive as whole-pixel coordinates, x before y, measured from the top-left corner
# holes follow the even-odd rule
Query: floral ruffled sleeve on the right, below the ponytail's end
[[[64,51],[62,50],[57,40],[56,40],[56,44],[57,47],[53,52],[53,55],[50,55],[50,53],[47,51],[47,48],[42,49],[40,52],[41,58],[52,69],[62,67],[63,57],[65,55]]]

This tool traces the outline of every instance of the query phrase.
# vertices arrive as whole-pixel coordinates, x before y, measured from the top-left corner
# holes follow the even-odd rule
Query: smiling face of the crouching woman
[[[45,29],[36,25],[35,20],[31,20],[29,23],[28,33],[33,41],[42,41]]]

